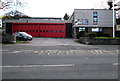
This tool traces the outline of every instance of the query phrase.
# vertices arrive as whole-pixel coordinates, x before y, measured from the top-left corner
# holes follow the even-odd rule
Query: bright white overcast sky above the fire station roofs
[[[65,13],[72,15],[74,9],[107,8],[107,0],[24,0],[24,8],[16,8],[31,17],[63,17]],[[14,9],[11,9],[14,10]],[[0,11],[1,14],[7,12]],[[10,10],[9,10],[10,11]]]

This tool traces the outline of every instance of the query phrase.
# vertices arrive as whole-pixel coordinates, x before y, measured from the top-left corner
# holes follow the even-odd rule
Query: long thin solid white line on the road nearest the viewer
[[[74,64],[58,64],[58,65],[13,65],[13,66],[0,66],[3,68],[29,68],[29,67],[73,67]]]

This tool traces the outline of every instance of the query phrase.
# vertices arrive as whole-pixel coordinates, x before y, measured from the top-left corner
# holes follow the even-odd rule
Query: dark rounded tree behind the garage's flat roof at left
[[[30,18],[30,17],[25,15],[24,13],[14,10],[6,13],[2,19],[5,20],[5,19],[19,19],[19,18]]]

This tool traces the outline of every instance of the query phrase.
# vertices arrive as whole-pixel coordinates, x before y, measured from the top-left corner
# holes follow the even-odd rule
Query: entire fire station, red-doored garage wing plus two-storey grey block
[[[107,9],[75,9],[69,20],[62,20],[61,18],[19,18],[17,20],[5,20],[4,23],[6,33],[27,32],[33,37],[71,38],[80,31],[86,33],[104,32],[112,36],[113,11]]]

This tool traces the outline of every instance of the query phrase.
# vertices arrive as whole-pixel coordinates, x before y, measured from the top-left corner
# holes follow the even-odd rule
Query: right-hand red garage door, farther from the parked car
[[[39,25],[40,37],[65,37],[66,26],[65,24],[40,24]]]

